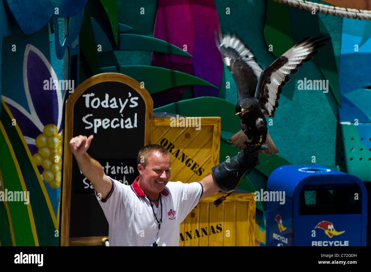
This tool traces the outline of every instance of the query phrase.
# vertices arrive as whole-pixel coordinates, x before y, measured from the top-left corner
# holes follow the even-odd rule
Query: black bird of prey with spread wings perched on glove
[[[224,63],[232,72],[237,86],[236,112],[240,115],[241,130],[228,142],[242,150],[249,145],[267,144],[266,155],[278,150],[270,138],[265,117],[274,117],[282,87],[290,80],[288,75],[298,72],[298,67],[311,60],[329,39],[323,36],[306,37],[264,70],[257,64],[253,53],[236,37],[215,32],[217,47]],[[236,114],[236,115],[237,115]]]

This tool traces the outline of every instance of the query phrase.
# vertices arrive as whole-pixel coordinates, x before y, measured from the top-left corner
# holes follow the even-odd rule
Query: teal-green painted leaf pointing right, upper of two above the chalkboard
[[[120,50],[148,50],[192,57],[189,53],[184,52],[183,49],[164,40],[137,34],[120,33],[119,46]]]

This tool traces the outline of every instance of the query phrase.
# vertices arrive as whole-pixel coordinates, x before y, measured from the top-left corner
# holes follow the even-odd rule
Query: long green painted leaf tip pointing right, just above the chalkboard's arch
[[[184,85],[205,85],[217,88],[213,84],[187,73],[150,65],[122,65],[120,73],[144,82],[144,88],[150,94]]]

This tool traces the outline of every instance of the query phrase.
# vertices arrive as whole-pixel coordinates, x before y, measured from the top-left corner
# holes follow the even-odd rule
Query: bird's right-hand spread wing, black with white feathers
[[[276,59],[261,73],[257,84],[255,97],[259,101],[260,109],[266,117],[274,117],[278,107],[279,95],[282,86],[290,80],[288,75],[298,72],[298,67],[304,62],[311,60],[318,52],[318,48],[325,45],[329,39],[323,36],[309,40],[309,37],[301,40],[291,47],[286,53]]]

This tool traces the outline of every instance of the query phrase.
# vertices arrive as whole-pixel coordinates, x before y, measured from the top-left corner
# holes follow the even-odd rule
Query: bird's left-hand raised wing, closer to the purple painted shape
[[[235,35],[215,32],[217,47],[229,71],[232,72],[238,90],[238,98],[253,97],[263,69],[256,63],[253,53]]]

